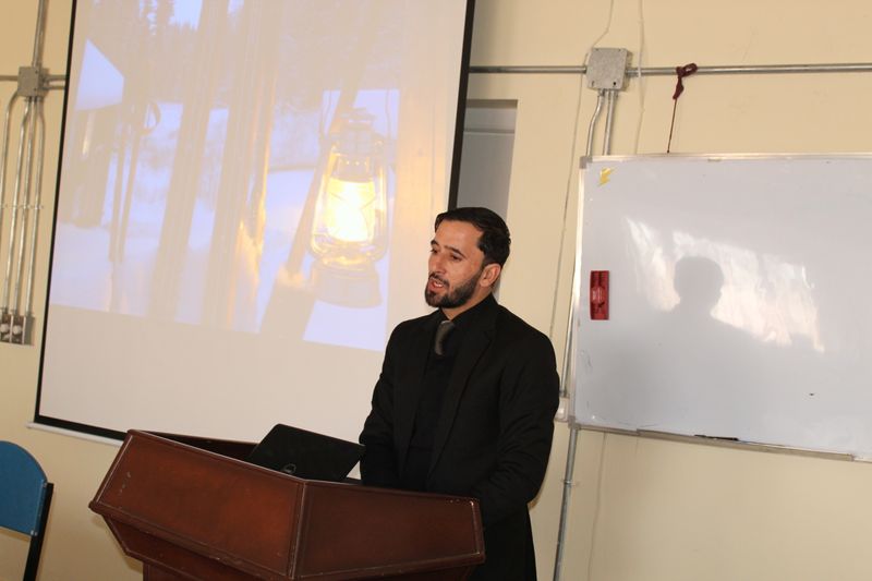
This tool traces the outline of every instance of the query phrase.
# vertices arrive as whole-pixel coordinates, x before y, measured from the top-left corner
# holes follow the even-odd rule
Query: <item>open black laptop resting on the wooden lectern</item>
[[[342,482],[363,450],[353,441],[276,424],[246,460],[299,479]]]

